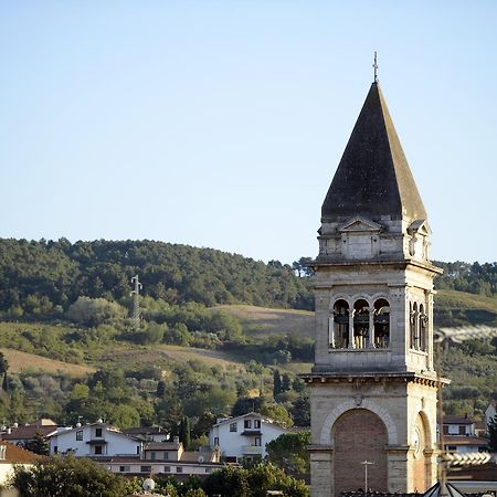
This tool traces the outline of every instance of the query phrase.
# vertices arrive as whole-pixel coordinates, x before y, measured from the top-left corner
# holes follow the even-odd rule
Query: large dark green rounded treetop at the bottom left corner
[[[12,485],[20,497],[121,497],[138,489],[133,480],[86,457],[74,456],[44,457],[31,468],[17,466]]]

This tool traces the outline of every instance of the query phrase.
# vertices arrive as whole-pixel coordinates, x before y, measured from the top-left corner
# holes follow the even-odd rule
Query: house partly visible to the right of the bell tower
[[[487,451],[488,440],[476,435],[476,423],[467,414],[445,415],[444,447],[447,452],[469,453]]]

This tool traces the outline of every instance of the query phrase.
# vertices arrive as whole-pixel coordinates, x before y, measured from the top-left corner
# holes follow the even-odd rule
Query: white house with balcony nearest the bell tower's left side
[[[218,420],[209,432],[209,444],[219,447],[226,462],[263,458],[266,444],[287,432],[272,420],[250,412]]]

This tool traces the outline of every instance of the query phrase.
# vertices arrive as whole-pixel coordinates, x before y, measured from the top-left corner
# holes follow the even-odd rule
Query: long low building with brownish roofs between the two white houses
[[[149,442],[140,456],[98,458],[98,463],[113,473],[123,475],[175,475],[177,478],[205,476],[223,466],[218,450],[184,451],[175,436],[172,442]]]

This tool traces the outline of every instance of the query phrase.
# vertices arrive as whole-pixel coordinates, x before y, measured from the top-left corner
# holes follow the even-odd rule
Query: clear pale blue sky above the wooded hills
[[[444,261],[497,260],[495,1],[0,3],[0,236],[292,262],[380,84]]]

